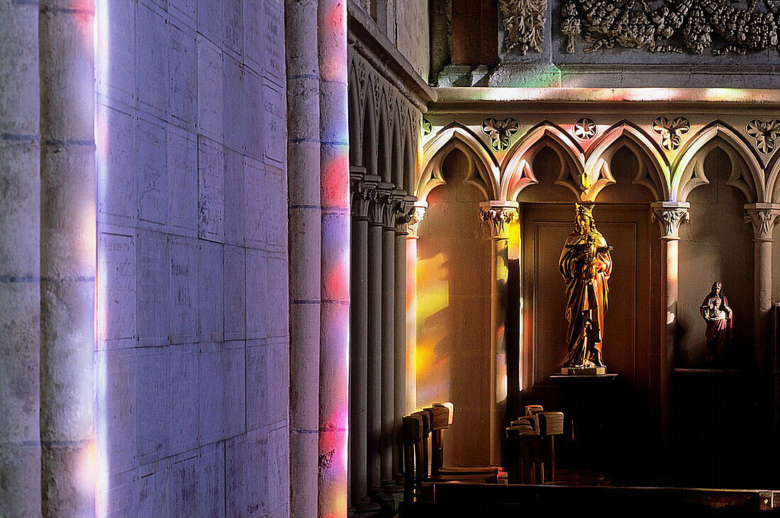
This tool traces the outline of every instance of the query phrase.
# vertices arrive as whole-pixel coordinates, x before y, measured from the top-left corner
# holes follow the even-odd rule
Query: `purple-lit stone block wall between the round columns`
[[[96,3],[98,513],[286,516],[282,2]]]

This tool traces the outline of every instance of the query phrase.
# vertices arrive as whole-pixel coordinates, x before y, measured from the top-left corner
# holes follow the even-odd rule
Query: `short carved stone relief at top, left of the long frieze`
[[[530,50],[541,52],[547,0],[498,0],[498,9],[506,30],[504,50],[521,55]]]

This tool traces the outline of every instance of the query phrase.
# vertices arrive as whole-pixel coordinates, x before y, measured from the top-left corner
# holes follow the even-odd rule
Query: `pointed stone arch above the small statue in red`
[[[719,147],[732,163],[732,174],[726,183],[742,191],[751,202],[764,201],[764,168],[739,133],[721,121],[714,121],[694,135],[675,160],[670,199],[684,202],[693,189],[710,181],[704,173],[704,158]]]

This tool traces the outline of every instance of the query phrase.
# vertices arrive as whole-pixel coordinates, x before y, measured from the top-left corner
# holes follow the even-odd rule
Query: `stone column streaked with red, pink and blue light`
[[[322,206],[318,514],[344,516],[349,441],[350,205],[346,2],[319,0],[317,29]]]

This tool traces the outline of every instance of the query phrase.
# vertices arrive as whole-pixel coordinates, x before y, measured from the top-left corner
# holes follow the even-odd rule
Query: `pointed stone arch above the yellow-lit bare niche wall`
[[[426,143],[423,157],[423,173],[417,182],[415,196],[424,201],[437,185],[445,185],[441,174],[441,162],[450,151],[459,149],[470,160],[466,171],[466,183],[474,185],[485,199],[498,199],[498,163],[484,143],[466,126],[452,122],[442,128]]]

